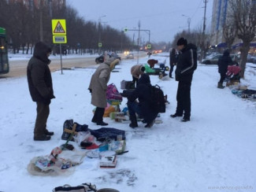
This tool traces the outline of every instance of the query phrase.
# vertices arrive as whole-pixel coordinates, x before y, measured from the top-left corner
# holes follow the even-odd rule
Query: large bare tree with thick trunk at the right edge
[[[242,39],[240,67],[241,77],[247,63],[247,54],[250,50],[250,42],[253,41],[256,33],[256,1],[255,0],[232,0],[229,1],[231,15],[237,29],[237,36]]]

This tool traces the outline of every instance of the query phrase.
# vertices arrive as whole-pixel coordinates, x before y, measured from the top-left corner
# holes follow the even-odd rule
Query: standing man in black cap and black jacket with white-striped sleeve
[[[171,117],[183,116],[183,122],[190,120],[191,116],[191,82],[193,73],[197,68],[197,48],[194,44],[187,44],[187,39],[180,38],[177,42],[180,54],[176,65],[176,81],[179,82],[176,100],[176,113]]]

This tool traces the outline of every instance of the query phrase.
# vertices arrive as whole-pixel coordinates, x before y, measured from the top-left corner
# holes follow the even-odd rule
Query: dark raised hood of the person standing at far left
[[[47,54],[51,52],[50,46],[46,45],[44,42],[37,42],[35,44],[35,49],[33,57],[38,58],[39,60],[45,62],[47,65],[50,64],[50,59],[48,59]]]

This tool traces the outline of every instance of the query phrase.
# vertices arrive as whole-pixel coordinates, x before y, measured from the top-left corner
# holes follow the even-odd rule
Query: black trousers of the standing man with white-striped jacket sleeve
[[[189,119],[191,116],[191,82],[181,82],[179,81],[176,100],[177,108],[176,114],[184,118]]]

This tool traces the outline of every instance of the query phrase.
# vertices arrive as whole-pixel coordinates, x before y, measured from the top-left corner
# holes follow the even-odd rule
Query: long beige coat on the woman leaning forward
[[[91,104],[96,107],[106,107],[106,89],[110,78],[109,64],[102,63],[98,66],[95,73],[91,76]]]

